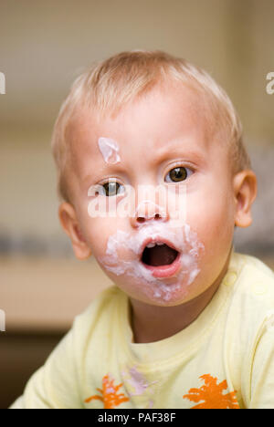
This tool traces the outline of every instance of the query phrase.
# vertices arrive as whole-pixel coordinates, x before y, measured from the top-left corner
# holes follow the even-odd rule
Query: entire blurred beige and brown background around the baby
[[[237,230],[235,247],[274,266],[273,16],[273,0],[0,0],[0,408],[111,284],[94,260],[73,258],[49,148],[60,104],[90,63],[162,49],[227,90],[258,174],[254,224]]]

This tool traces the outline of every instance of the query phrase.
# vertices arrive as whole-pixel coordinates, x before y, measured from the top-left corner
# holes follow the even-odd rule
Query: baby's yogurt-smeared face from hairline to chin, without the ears
[[[227,263],[236,202],[226,144],[197,95],[157,87],[114,118],[83,112],[70,135],[79,229],[111,280],[158,306],[212,286]]]

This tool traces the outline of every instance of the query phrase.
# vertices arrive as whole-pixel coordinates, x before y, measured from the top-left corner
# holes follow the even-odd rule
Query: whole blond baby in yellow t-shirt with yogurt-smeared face
[[[225,91],[124,52],[76,80],[52,147],[62,227],[113,286],[12,408],[272,408],[274,275],[234,251],[257,180]]]

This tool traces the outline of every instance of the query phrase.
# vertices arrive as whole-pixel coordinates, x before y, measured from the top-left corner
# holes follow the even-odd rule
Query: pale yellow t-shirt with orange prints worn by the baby
[[[25,408],[274,408],[274,274],[232,253],[195,321],[173,337],[132,342],[117,286],[79,315],[12,405]]]

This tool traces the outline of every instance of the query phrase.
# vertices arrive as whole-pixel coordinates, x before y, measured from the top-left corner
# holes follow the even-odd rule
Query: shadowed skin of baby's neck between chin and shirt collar
[[[131,323],[135,343],[148,343],[172,337],[189,326],[209,304],[227,273],[227,263],[216,281],[194,299],[174,307],[149,306],[131,298]]]

